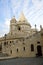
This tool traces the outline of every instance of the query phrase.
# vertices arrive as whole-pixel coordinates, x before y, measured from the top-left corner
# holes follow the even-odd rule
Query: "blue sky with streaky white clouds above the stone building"
[[[32,27],[43,26],[43,0],[0,0],[0,36],[9,32],[9,20],[18,19],[22,11]]]

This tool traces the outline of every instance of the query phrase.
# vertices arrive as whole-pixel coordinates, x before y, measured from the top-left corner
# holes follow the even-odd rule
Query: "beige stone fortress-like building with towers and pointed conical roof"
[[[0,53],[13,57],[43,56],[41,31],[32,29],[24,14],[10,20],[10,31],[0,38]]]

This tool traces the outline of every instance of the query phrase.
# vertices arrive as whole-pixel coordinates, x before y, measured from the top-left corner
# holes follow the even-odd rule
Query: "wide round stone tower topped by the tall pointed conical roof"
[[[23,12],[21,13],[19,17],[17,25],[18,25],[18,30],[21,30],[21,31],[29,31],[31,29],[31,25],[25,18]]]

